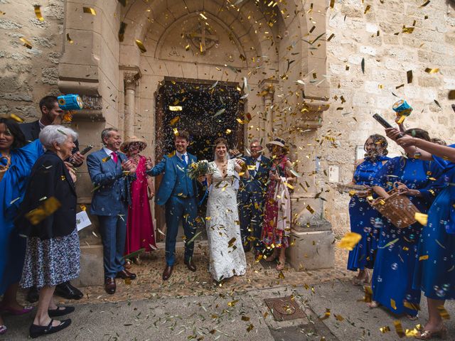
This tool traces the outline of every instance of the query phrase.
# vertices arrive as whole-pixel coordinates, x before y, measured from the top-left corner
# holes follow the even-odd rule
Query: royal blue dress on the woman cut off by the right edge
[[[451,145],[455,148],[455,145]],[[455,163],[433,156],[445,173],[444,189],[428,211],[416,260],[414,288],[434,300],[455,299]]]

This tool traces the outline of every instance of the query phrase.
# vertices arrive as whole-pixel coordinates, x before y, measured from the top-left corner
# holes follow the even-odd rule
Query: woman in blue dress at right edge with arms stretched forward
[[[411,136],[400,138],[397,129],[386,129],[387,136],[422,160],[434,160],[445,172],[446,186],[428,211],[416,260],[414,288],[427,297],[429,319],[416,336],[419,340],[446,338],[444,303],[455,299],[455,145],[441,146]]]

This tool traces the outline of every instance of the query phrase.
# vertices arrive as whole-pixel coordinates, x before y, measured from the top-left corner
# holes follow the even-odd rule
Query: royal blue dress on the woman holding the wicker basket
[[[434,162],[399,156],[385,164],[374,183],[385,190],[392,189],[395,182],[419,190],[422,197],[410,196],[410,200],[420,212],[427,213],[439,189],[436,180],[439,175],[441,169]],[[412,288],[412,278],[422,225],[416,222],[410,227],[398,229],[384,217],[382,222],[371,282],[373,301],[384,305],[392,313],[417,315],[412,304],[414,307],[419,304],[420,291]],[[410,304],[405,306],[405,302]]]

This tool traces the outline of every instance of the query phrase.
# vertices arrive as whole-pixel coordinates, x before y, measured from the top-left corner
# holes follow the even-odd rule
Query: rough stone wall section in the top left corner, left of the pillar
[[[38,101],[59,94],[58,63],[63,45],[63,0],[39,1],[44,21],[33,2],[0,0],[0,114],[38,117]],[[26,48],[20,38],[31,43]]]

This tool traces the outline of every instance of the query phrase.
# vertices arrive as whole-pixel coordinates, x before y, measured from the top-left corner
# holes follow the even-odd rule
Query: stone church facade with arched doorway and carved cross
[[[124,136],[143,136],[144,153],[159,159],[168,152],[166,129],[203,134],[205,124],[217,124],[213,118],[201,127],[183,111],[169,128],[166,101],[176,98],[174,91],[231,89],[238,123],[220,133],[232,134],[239,146],[272,136],[291,146],[301,174],[289,250],[296,269],[333,264],[334,235],[349,228],[348,197],[336,183],[350,180],[365,139],[382,132],[372,114],[392,121],[392,104],[405,98],[414,107],[408,126],[448,142],[454,134],[447,95],[455,89],[451,1],[41,2],[43,20],[30,1],[0,0],[0,114],[35,119],[45,94],[77,93],[86,107],[72,126],[82,147],[99,147],[100,131],[114,126]],[[85,167],[79,176],[79,203],[90,205]],[[80,234],[82,264],[99,258],[96,231]]]

